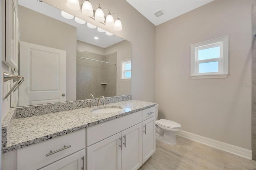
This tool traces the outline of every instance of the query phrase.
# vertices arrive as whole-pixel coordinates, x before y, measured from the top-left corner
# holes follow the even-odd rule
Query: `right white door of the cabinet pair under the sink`
[[[122,170],[142,165],[141,123],[122,131]]]

